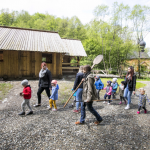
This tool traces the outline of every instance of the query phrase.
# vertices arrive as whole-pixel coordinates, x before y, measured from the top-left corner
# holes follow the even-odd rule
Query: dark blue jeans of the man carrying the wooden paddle
[[[85,107],[87,106],[87,109],[96,117],[97,121],[103,120],[102,117],[98,114],[98,112],[93,108],[93,102],[84,103],[81,107],[81,118],[80,123],[84,123],[85,117],[86,117],[86,111]]]

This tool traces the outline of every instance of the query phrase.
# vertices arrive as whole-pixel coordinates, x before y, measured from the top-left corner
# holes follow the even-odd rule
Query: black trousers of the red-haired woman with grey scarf
[[[38,104],[41,104],[41,93],[42,93],[44,90],[46,91],[46,94],[47,94],[47,96],[48,96],[48,99],[49,99],[50,96],[51,96],[49,87],[46,87],[46,88],[45,88],[45,87],[39,87],[38,92],[37,92]]]

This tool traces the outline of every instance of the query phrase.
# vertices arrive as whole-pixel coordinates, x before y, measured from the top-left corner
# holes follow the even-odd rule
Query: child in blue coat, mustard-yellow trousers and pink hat
[[[52,80],[51,85],[52,85],[52,95],[50,96],[50,100],[49,100],[50,107],[48,109],[52,109],[52,104],[53,104],[54,109],[52,111],[57,111],[56,100],[58,100],[59,86],[56,80]]]

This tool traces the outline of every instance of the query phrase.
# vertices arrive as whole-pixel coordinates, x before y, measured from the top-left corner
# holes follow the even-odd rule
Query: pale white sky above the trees
[[[130,7],[136,4],[150,6],[150,0],[1,0],[0,9],[25,10],[31,15],[36,12],[48,13],[61,18],[77,16],[86,24],[94,18],[93,10],[96,6],[105,4],[111,7],[116,1]],[[147,47],[150,47],[149,39],[150,33],[144,39]]]

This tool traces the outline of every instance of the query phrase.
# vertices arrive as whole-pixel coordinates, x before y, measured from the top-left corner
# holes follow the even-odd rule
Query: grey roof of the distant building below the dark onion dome
[[[138,59],[139,58],[139,52],[134,51],[133,54],[128,56],[128,59]],[[140,52],[140,58],[150,59],[149,55],[146,52]]]

